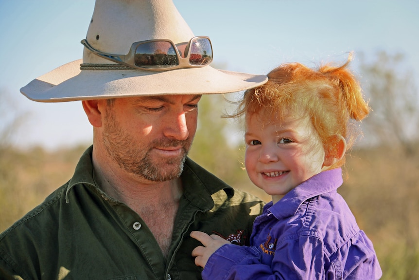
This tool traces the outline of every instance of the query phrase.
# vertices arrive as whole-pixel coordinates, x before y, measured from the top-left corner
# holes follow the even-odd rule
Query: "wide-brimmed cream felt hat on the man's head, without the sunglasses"
[[[169,39],[177,45],[192,37],[191,29],[172,0],[96,0],[86,41],[99,52],[125,55],[134,42]],[[85,47],[83,60],[67,63],[36,78],[20,92],[39,102],[64,102],[161,94],[232,93],[256,87],[266,80],[265,75],[217,70],[209,65],[166,71],[133,69],[98,56]]]

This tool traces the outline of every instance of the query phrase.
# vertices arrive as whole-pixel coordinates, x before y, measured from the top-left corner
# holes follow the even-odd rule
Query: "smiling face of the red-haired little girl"
[[[268,121],[257,113],[246,117],[246,125],[247,174],[274,203],[322,171],[325,151],[307,115]]]

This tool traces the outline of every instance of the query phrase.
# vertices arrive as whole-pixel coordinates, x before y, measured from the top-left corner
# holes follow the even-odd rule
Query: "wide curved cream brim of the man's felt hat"
[[[265,75],[202,68],[173,71],[80,70],[72,61],[20,89],[38,102],[65,102],[162,94],[234,93],[262,85]]]

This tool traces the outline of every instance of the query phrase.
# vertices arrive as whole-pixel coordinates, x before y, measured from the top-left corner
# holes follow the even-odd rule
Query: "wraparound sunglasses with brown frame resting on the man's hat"
[[[188,43],[177,46],[167,39],[135,42],[127,55],[103,53],[90,46],[86,39],[81,43],[95,55],[135,69],[165,71],[196,68],[206,66],[212,61],[211,41],[205,36],[193,37]]]

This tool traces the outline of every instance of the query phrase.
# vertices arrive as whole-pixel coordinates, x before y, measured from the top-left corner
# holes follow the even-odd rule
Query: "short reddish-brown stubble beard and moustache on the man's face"
[[[138,147],[138,143],[131,135],[120,129],[112,113],[109,114],[106,123],[103,132],[104,147],[120,168],[154,182],[168,181],[180,176],[192,145],[191,139],[155,139],[148,143],[147,147]],[[153,161],[151,155],[153,147],[182,147],[182,152],[177,157],[155,157]]]

